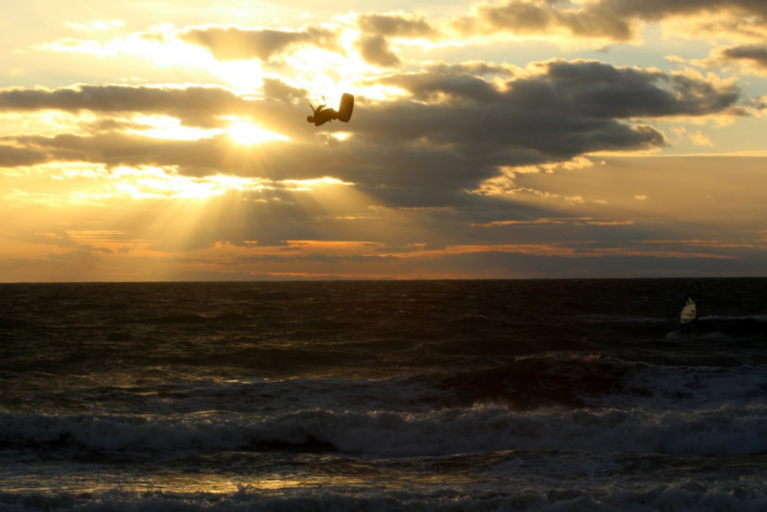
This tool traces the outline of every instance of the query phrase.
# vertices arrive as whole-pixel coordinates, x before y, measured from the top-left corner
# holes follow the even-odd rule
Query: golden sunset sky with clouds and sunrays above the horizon
[[[0,34],[0,282],[767,276],[764,0],[29,0]]]

